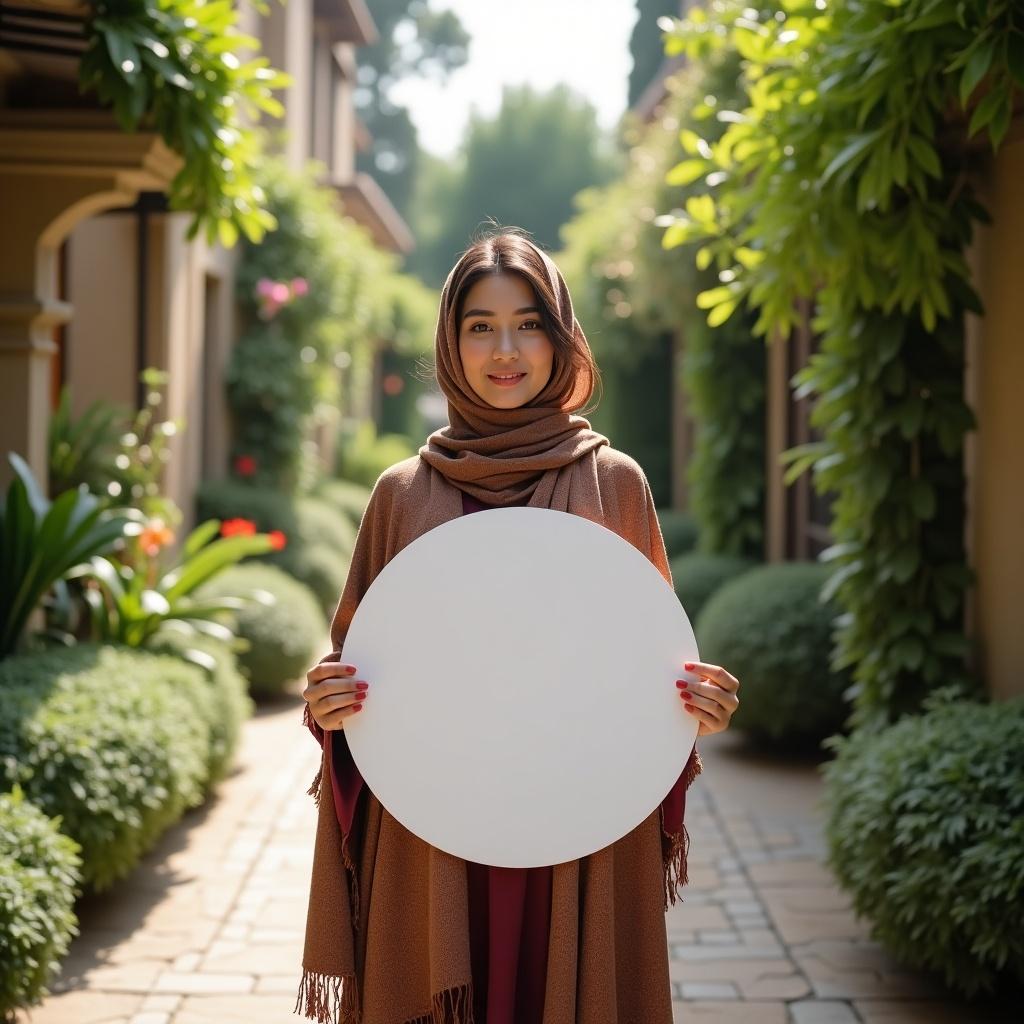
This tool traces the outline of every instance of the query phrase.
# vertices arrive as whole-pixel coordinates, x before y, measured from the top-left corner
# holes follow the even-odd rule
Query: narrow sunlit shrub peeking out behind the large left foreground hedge
[[[165,627],[150,643],[150,650],[181,657],[185,651],[205,654],[207,674],[213,700],[210,709],[210,758],[207,788],[219,782],[230,771],[239,748],[242,726],[255,710],[249,696],[249,681],[239,669],[238,657],[227,644],[208,636],[182,636]]]

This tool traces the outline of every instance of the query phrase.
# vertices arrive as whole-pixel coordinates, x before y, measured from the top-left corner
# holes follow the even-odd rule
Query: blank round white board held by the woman
[[[424,534],[374,581],[342,656],[370,683],[345,734],[371,791],[481,864],[615,842],[696,738],[675,682],[697,678],[686,612],[636,548],[565,512],[486,510]]]

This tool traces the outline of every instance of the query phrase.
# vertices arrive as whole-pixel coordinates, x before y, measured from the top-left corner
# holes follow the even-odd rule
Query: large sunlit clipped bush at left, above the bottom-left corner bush
[[[81,644],[0,662],[0,791],[26,795],[82,848],[99,891],[203,802],[216,714],[196,666]]]

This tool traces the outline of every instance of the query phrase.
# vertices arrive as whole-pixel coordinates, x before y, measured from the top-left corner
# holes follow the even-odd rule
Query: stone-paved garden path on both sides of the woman
[[[246,726],[238,769],[133,874],[80,904],[53,994],[18,1024],[289,1024],[299,980],[319,749],[301,698]],[[670,908],[676,1020],[686,1024],[1001,1024],[867,936],[822,864],[813,765],[702,741],[690,886]],[[637,1022],[642,1024],[642,1022]]]

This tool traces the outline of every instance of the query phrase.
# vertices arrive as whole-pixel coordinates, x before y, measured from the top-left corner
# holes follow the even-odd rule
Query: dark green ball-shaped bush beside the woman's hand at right
[[[828,666],[839,614],[818,600],[828,574],[817,562],[760,565],[705,605],[696,625],[701,656],[728,666],[742,682],[735,728],[817,744],[842,727],[850,678]]]

